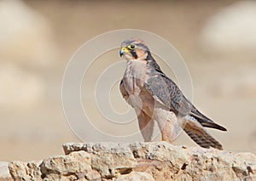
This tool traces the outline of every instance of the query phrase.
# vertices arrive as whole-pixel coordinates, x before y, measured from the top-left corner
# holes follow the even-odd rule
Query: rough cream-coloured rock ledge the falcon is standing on
[[[9,163],[16,180],[256,180],[256,156],[165,142],[64,144],[66,156]]]

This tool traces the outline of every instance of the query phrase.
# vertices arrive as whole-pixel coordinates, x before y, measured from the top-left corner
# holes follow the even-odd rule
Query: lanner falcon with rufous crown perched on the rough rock
[[[156,121],[163,141],[172,143],[183,129],[201,147],[223,149],[205,127],[222,131],[226,128],[212,122],[186,99],[175,82],[161,71],[142,40],[125,40],[119,54],[126,59],[120,92],[135,109],[145,141],[152,139]]]

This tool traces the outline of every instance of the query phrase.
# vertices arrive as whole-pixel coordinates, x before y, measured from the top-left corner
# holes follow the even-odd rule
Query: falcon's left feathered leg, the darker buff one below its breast
[[[139,127],[141,133],[143,134],[144,141],[150,141],[152,139],[152,134],[154,131],[154,120],[151,119],[146,113],[141,110],[139,115],[137,116],[137,120],[139,123]]]

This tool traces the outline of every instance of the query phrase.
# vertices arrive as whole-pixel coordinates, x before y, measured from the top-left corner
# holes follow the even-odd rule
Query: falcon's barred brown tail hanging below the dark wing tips
[[[213,139],[212,136],[207,133],[207,130],[197,122],[194,117],[189,116],[189,119],[186,119],[186,125],[183,127],[183,130],[201,147],[207,149],[212,147],[218,150],[223,150],[222,145],[218,143],[216,139]]]

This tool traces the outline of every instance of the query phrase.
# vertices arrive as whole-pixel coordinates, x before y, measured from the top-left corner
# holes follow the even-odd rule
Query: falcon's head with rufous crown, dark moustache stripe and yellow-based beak
[[[119,54],[127,60],[147,60],[150,52],[143,40],[131,38],[122,42]]]

